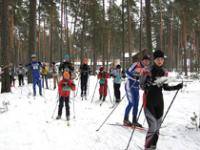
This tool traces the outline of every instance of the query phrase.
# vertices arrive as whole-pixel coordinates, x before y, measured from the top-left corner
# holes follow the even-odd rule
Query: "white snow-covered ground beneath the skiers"
[[[75,98],[71,93],[70,126],[66,124],[64,111],[62,120],[51,118],[57,104],[57,90],[45,89],[43,97],[33,98],[32,85],[25,85],[12,88],[12,93],[0,94],[0,107],[3,107],[3,102],[8,104],[8,111],[0,113],[0,150],[124,150],[132,130],[109,123],[122,122],[127,100],[125,98],[119,104],[97,132],[96,129],[112,111],[109,97],[113,99],[113,94],[108,95],[106,102],[100,106],[96,89],[91,103],[96,82],[96,77],[90,77],[88,100],[81,100],[80,89]],[[190,119],[193,112],[198,116],[200,113],[200,82],[194,80],[186,84],[163,123],[159,150],[200,150],[199,131],[187,128],[194,127]],[[109,91],[113,93],[112,80],[109,81]],[[123,96],[124,83],[121,91]],[[175,91],[164,92],[165,109],[174,94]],[[56,115],[57,109],[54,118]],[[139,122],[147,127],[143,112]],[[145,134],[135,131],[129,149],[137,150],[136,145],[143,146]]]

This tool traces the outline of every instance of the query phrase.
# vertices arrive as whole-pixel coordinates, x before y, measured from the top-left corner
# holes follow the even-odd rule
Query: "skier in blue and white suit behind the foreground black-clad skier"
[[[137,121],[139,104],[139,76],[146,66],[150,63],[150,57],[144,55],[140,62],[135,62],[126,70],[127,82],[125,85],[128,105],[125,109],[124,125],[142,127]],[[129,121],[129,113],[132,109],[132,122]]]

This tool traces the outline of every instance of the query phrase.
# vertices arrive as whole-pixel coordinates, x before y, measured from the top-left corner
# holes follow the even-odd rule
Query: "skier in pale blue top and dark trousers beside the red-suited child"
[[[114,69],[111,71],[111,76],[114,78],[113,80],[113,87],[114,87],[114,94],[115,94],[115,101],[116,103],[120,102],[120,86],[121,86],[121,78],[122,78],[122,71],[121,71],[121,66],[117,65]]]

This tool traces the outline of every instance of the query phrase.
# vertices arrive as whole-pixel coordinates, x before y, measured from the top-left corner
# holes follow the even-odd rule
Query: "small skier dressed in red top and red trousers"
[[[110,78],[110,75],[104,70],[104,67],[100,67],[99,69],[99,74],[98,74],[98,79],[99,79],[99,95],[101,100],[103,98],[103,101],[105,101],[106,96],[107,96],[107,88],[108,88],[108,78]]]

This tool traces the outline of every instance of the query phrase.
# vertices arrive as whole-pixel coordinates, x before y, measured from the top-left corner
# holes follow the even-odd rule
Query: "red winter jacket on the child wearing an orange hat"
[[[62,79],[59,83],[58,83],[58,92],[60,96],[63,97],[68,97],[70,95],[70,91],[73,90],[75,91],[75,84],[73,83],[72,80],[65,80]]]

